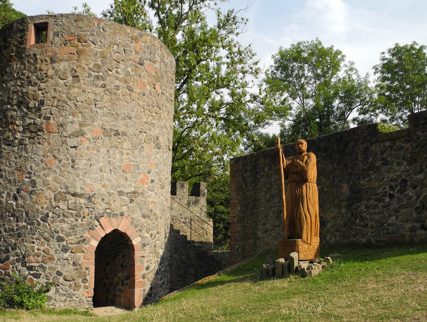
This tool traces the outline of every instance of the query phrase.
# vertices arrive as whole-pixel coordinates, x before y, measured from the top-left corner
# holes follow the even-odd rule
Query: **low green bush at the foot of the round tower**
[[[45,285],[36,283],[27,285],[22,277],[12,273],[10,278],[3,274],[4,282],[0,283],[0,307],[14,309],[40,309],[45,307],[46,293],[55,286],[55,282],[47,282]]]

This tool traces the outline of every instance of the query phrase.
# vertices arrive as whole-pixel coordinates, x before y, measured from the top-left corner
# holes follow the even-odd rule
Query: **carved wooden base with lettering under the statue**
[[[298,253],[299,261],[308,261],[319,258],[319,237],[313,237],[311,245],[304,243],[301,239],[279,239],[279,258],[289,259],[289,254]]]

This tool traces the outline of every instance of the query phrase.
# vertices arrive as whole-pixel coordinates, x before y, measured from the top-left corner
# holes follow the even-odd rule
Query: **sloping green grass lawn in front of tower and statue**
[[[407,321],[427,322],[427,246],[321,250],[342,262],[313,278],[260,280],[261,254],[208,283],[117,316],[52,310],[0,313],[15,322]],[[277,251],[272,252],[277,258]]]

